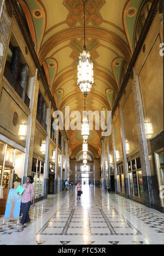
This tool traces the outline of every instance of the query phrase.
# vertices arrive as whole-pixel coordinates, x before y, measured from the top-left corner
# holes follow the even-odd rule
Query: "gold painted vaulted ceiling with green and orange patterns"
[[[86,110],[112,110],[133,54],[134,30],[143,0],[86,0],[86,48],[91,54],[94,86]],[[84,111],[77,87],[77,59],[83,51],[83,0],[19,0],[56,106]],[[93,119],[93,122],[95,120]],[[79,130],[68,130],[71,157],[82,149]],[[92,130],[89,150],[98,158],[100,130]]]

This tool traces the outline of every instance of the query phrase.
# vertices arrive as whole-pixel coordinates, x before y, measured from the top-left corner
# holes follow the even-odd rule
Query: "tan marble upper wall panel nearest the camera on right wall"
[[[161,38],[157,36],[139,73],[147,139],[154,138],[163,130],[163,65],[159,54],[160,43]]]

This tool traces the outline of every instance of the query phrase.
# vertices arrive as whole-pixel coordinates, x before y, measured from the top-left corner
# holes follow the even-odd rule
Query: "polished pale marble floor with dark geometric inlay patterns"
[[[0,244],[164,244],[163,214],[125,197],[83,186],[30,208],[31,225],[0,219]]]

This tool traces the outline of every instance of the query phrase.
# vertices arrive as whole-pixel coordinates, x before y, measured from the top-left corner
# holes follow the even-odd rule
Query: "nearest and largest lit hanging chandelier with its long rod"
[[[81,92],[84,93],[84,96],[87,96],[87,93],[90,92],[93,86],[93,61],[89,52],[86,52],[85,45],[85,0],[84,4],[84,49],[83,53],[80,53],[78,59],[78,87]]]

